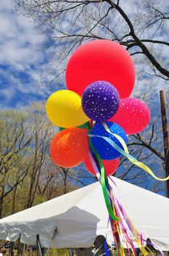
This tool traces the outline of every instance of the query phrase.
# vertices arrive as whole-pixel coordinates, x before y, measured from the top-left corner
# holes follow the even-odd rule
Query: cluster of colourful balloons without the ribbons
[[[56,91],[46,105],[50,121],[62,128],[50,146],[50,155],[57,165],[74,167],[84,162],[95,175],[88,156],[89,149],[92,151],[88,143],[90,133],[107,176],[117,170],[121,154],[103,138],[113,140],[123,149],[114,135],[127,143],[127,135],[141,132],[150,120],[146,104],[129,97],[134,83],[133,60],[116,42],[94,40],[75,50],[66,68],[67,90]]]

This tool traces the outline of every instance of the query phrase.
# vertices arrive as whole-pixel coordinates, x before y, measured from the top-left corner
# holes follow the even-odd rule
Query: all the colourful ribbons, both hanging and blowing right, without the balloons
[[[92,151],[89,151],[90,162],[93,165],[93,168],[95,170],[95,175],[98,177],[98,181],[100,181],[100,183],[101,183],[104,200],[105,200],[108,212],[109,212],[109,223],[111,225],[111,230],[112,230],[112,233],[114,236],[114,244],[117,248],[117,254],[118,254],[118,256],[125,256],[125,249],[123,246],[123,241],[125,238],[125,243],[126,243],[129,255],[130,255],[130,249],[131,249],[131,252],[133,253],[133,255],[136,255],[135,246],[133,244],[133,242],[135,242],[136,244],[138,244],[138,248],[141,250],[142,254],[144,256],[146,256],[149,254],[146,251],[146,249],[144,248],[144,244],[143,244],[144,241],[146,241],[146,240],[144,240],[142,238],[142,236],[138,234],[133,223],[130,222],[130,219],[127,217],[127,214],[125,213],[124,209],[122,208],[121,203],[117,199],[116,195],[113,193],[113,188],[109,184],[109,179],[106,176],[106,172],[104,170],[103,163],[101,161],[101,157],[99,156],[98,152],[95,150],[93,143],[91,141],[91,138],[92,137],[103,138],[104,140],[106,140],[107,143],[109,143],[112,147],[114,147],[117,151],[119,151],[123,156],[127,157],[130,160],[130,162],[132,162],[134,165],[137,165],[138,167],[141,167],[143,170],[145,170],[152,177],[154,177],[155,179],[157,179],[159,181],[167,181],[169,179],[169,176],[167,178],[158,178],[157,176],[155,176],[154,173],[152,172],[152,170],[148,166],[144,165],[141,162],[138,162],[138,160],[135,159],[135,157],[133,157],[129,154],[129,152],[127,150],[127,146],[125,144],[125,141],[119,135],[112,133],[109,130],[109,127],[106,125],[106,123],[102,123],[102,124],[103,124],[103,127],[106,129],[106,132],[109,132],[111,135],[113,135],[115,138],[117,138],[117,140],[119,140],[122,147],[124,148],[124,150],[123,150],[122,148],[117,146],[117,144],[114,143],[113,140],[111,140],[110,138],[107,138],[105,136],[91,135],[90,129],[89,129],[88,136],[89,136],[90,148],[92,150]],[[111,181],[112,181],[112,179],[111,179]],[[117,185],[114,183],[114,181],[113,181],[113,184],[117,187]],[[132,234],[132,237],[131,237],[131,234]],[[123,239],[123,241],[122,241],[122,239]],[[155,246],[154,244],[153,244],[153,246],[155,248],[157,248],[157,246]],[[152,254],[152,251],[150,251],[148,247],[147,247],[147,249]],[[158,250],[160,251],[160,249],[158,249]],[[162,252],[161,252],[161,254],[163,256]],[[107,248],[106,248],[106,256],[109,256],[109,250]]]

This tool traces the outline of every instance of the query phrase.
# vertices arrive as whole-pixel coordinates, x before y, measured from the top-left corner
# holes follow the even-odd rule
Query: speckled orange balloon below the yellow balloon
[[[87,129],[72,127],[63,129],[52,139],[50,156],[61,167],[79,165],[88,152]]]

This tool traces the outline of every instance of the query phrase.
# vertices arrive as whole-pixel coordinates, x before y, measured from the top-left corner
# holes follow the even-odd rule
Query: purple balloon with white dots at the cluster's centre
[[[117,113],[119,93],[111,83],[91,83],[82,95],[82,108],[93,121],[106,121]]]

